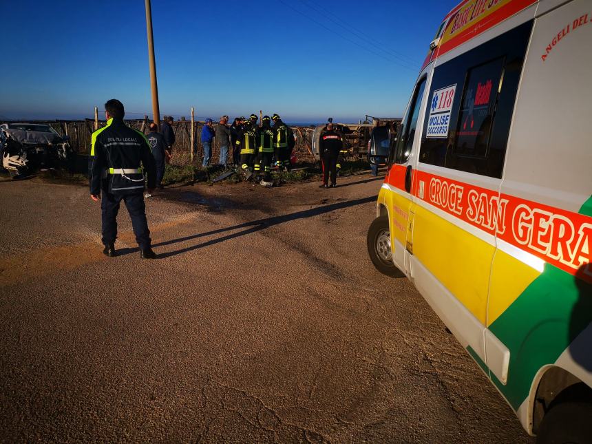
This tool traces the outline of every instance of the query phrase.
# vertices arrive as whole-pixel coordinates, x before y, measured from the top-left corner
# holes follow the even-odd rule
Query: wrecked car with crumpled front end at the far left
[[[41,169],[67,167],[72,148],[67,136],[50,125],[4,123],[0,125],[2,167],[12,177],[27,176]]]

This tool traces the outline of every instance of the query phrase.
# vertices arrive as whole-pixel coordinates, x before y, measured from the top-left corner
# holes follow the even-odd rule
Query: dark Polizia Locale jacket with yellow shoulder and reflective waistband
[[[140,131],[111,118],[107,126],[94,131],[90,148],[90,193],[101,189],[113,194],[141,193],[144,173],[148,188],[156,187],[156,165],[149,142]]]

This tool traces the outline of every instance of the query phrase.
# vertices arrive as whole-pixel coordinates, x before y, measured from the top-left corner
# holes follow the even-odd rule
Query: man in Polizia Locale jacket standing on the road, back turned
[[[94,131],[90,151],[90,197],[101,200],[103,253],[115,255],[117,238],[117,212],[123,200],[134,228],[140,257],[154,259],[150,231],[144,204],[144,167],[148,175],[148,191],[156,185],[156,167],[147,138],[140,131],[131,129],[123,122],[123,103],[115,98],[105,103],[107,126]]]

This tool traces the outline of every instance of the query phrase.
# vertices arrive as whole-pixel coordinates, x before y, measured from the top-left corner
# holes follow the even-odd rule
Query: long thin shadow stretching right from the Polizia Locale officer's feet
[[[184,249],[180,249],[177,251],[170,251],[169,253],[161,253],[158,255],[159,258],[164,259],[165,257],[171,257],[171,256],[179,255],[182,253],[187,253],[189,251],[200,249],[204,246],[209,246],[209,245],[213,245],[213,244],[218,244],[220,242],[224,242],[226,240],[231,240],[231,239],[234,239],[235,237],[240,237],[240,236],[248,235],[251,233],[255,233],[255,231],[260,231],[260,230],[266,229],[270,226],[274,226],[277,224],[283,224],[284,222],[290,222],[291,220],[312,218],[312,217],[320,215],[320,214],[330,213],[330,211],[335,211],[335,210],[339,210],[339,209],[343,209],[343,208],[354,207],[355,205],[373,202],[375,199],[376,199],[376,196],[371,195],[371,196],[368,196],[367,198],[346,200],[345,202],[337,202],[334,204],[328,204],[328,205],[324,205],[323,207],[315,207],[315,208],[311,208],[308,210],[297,211],[295,213],[290,213],[290,214],[285,214],[285,215],[277,215],[277,216],[272,216],[271,218],[253,220],[252,222],[244,222],[242,224],[227,226],[226,228],[207,231],[206,233],[197,233],[197,234],[190,235],[190,236],[179,237],[178,239],[167,240],[165,242],[159,242],[158,244],[154,244],[153,247],[156,248],[159,246],[167,246],[167,245],[171,245],[171,244],[177,244],[179,242],[187,242],[189,240],[198,239],[199,237],[205,237],[205,236],[211,236],[211,235],[216,235],[216,234],[220,234],[220,233],[225,233],[226,231],[245,229],[245,230],[240,231],[238,233],[232,233],[232,234],[225,235],[222,237],[217,237],[216,239],[208,240],[207,242],[202,242],[201,244],[187,246]],[[133,251],[137,251],[137,249],[135,249]],[[123,250],[118,251],[118,253],[120,253],[120,255],[125,254],[122,252],[123,252]],[[129,253],[131,253],[131,251],[129,251]]]

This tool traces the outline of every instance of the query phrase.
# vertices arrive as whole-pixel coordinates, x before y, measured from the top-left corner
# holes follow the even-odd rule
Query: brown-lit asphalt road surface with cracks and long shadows
[[[85,187],[0,182],[0,441],[529,443],[407,279],[371,176],[177,187],[104,257]]]

